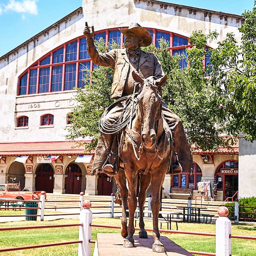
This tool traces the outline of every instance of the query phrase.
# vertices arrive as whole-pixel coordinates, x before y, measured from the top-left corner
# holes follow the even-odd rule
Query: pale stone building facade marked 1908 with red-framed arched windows
[[[89,163],[75,163],[78,155],[86,153],[81,147],[74,148],[75,142],[65,140],[70,125],[68,114],[76,104],[73,87],[83,88],[84,66],[94,68],[83,37],[85,21],[94,25],[95,39],[103,37],[106,44],[115,40],[120,47],[124,38],[118,28],[138,22],[149,30],[156,46],[164,37],[172,54],[181,54],[191,47],[188,37],[196,29],[219,32],[219,37],[209,42],[212,48],[229,32],[235,34],[239,43],[238,27],[243,17],[155,0],[83,0],[82,7],[0,58],[0,111],[4,118],[0,125],[0,183],[10,182],[15,176],[21,187],[28,190],[54,193],[81,190],[90,195],[109,195],[115,191],[113,180],[103,173],[87,174],[92,159]],[[187,65],[185,59],[181,60],[181,66],[184,65]],[[51,155],[60,157],[49,164],[38,162],[38,157]],[[13,162],[17,156],[29,157],[22,164]],[[190,187],[195,196],[200,180],[209,180],[213,186],[219,169],[237,169],[238,146],[232,150],[220,148],[214,153],[193,149],[193,160],[197,170],[193,177],[184,172],[171,180],[166,175],[166,195],[171,187]],[[225,175],[219,175],[223,184],[222,187],[219,184],[218,200],[229,195],[225,192]]]

